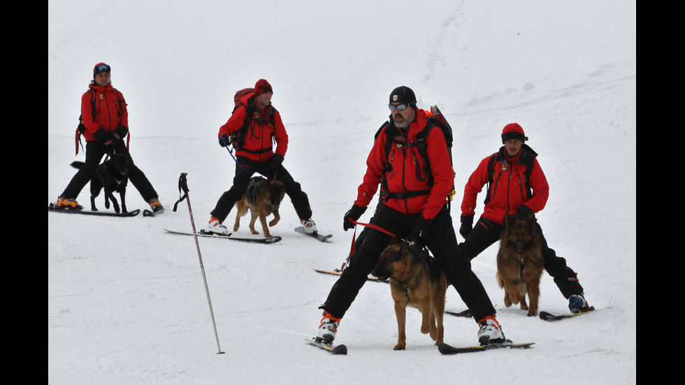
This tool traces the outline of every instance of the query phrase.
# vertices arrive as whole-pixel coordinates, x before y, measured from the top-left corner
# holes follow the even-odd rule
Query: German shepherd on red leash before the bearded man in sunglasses
[[[442,343],[447,278],[434,259],[417,254],[407,241],[395,237],[380,254],[371,274],[379,280],[390,278],[398,331],[394,350],[404,350],[407,346],[407,305],[416,305],[421,312],[421,333],[430,333],[436,346]]]

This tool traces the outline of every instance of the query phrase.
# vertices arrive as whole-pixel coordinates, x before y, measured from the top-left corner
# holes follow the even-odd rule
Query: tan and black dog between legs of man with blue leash
[[[240,228],[240,218],[247,214],[247,210],[250,210],[252,215],[250,231],[253,234],[259,234],[257,230],[254,230],[254,222],[259,217],[264,237],[271,237],[271,233],[269,233],[269,229],[266,226],[266,217],[273,214],[273,219],[269,222],[270,227],[275,226],[280,221],[281,217],[278,214],[278,207],[284,196],[285,187],[282,181],[277,179],[266,180],[263,177],[250,178],[250,183],[247,184],[247,191],[245,191],[243,199],[236,202],[238,215],[236,215],[236,224],[233,226],[233,231],[238,231],[238,228]]]

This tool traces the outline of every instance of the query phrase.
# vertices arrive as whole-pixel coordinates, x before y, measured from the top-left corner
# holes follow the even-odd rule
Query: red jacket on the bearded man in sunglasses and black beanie
[[[416,143],[417,134],[425,127],[426,112],[417,108],[417,117],[410,125],[405,140],[408,143]],[[393,145],[389,154],[391,168],[386,170],[387,129],[388,126],[382,129],[366,159],[366,175],[359,186],[354,204],[366,208],[376,194],[378,184],[385,176],[390,193],[431,191],[428,195],[409,198],[391,197],[384,202],[385,205],[405,214],[421,212],[425,219],[433,219],[447,202],[447,196],[454,185],[454,171],[449,161],[449,152],[447,152],[447,144],[442,131],[434,127],[426,138],[428,164],[433,176],[431,181],[431,178],[424,175],[425,161],[421,158],[417,147]]]

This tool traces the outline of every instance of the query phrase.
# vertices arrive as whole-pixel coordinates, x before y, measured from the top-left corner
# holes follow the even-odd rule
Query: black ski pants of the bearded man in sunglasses
[[[406,215],[387,205],[379,206],[373,217],[373,224],[395,235],[406,237],[419,220],[420,214]],[[349,257],[349,266],[343,270],[343,274],[333,285],[326,302],[319,308],[331,313],[333,317],[342,318],[352,305],[361,286],[366,283],[366,278],[377,265],[378,257],[391,239],[390,235],[377,231],[375,228],[369,228],[359,252]],[[445,271],[447,280],[473,312],[476,321],[495,314],[495,308],[483,284],[471,270],[470,259],[459,253],[452,217],[449,216],[446,207],[442,208],[433,219],[426,247],[435,256],[440,268]]]

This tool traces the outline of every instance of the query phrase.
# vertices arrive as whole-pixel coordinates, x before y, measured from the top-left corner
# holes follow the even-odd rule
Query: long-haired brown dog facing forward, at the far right
[[[545,268],[540,237],[535,231],[535,216],[528,219],[509,217],[497,253],[497,282],[504,289],[504,304],[521,303],[528,317],[538,315],[540,276]],[[526,304],[526,293],[531,305]]]

